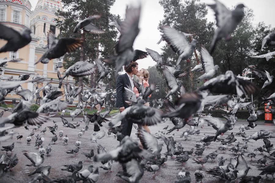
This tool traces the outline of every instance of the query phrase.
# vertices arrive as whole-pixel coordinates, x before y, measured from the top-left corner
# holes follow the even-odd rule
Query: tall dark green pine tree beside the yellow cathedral
[[[57,27],[60,30],[59,37],[71,37],[85,39],[83,44],[83,60],[93,62],[95,58],[110,57],[113,54],[113,47],[116,43],[116,37],[118,31],[112,22],[113,18],[119,18],[119,16],[110,13],[110,8],[114,4],[115,0],[63,0],[64,11],[57,12]],[[104,30],[104,34],[81,34],[73,33],[73,29],[76,24],[87,18],[90,15],[99,14],[101,18],[94,20],[92,23]],[[64,68],[67,69],[75,62],[80,61],[80,50],[76,52],[66,54],[64,56]],[[113,66],[110,65],[113,69]],[[97,81],[97,71],[90,76],[91,87],[95,87]],[[82,78],[75,78],[79,85],[82,85]],[[112,78],[115,79],[115,78]],[[84,82],[88,84],[89,78],[84,78]],[[106,80],[104,80],[106,83]],[[113,82],[112,82],[113,83]],[[79,96],[81,97],[81,96]],[[79,100],[80,101],[80,100]]]

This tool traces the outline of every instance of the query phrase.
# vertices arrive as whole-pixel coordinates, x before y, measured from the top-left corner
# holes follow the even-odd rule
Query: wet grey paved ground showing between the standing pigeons
[[[71,121],[71,118],[66,118],[66,119],[69,122]],[[90,141],[90,137],[91,137],[92,133],[94,132],[93,124],[90,124],[89,130],[86,131],[85,134],[82,135],[81,138],[79,138],[78,132],[85,126],[84,123],[80,123],[80,126],[77,127],[76,129],[66,128],[66,127],[62,126],[62,122],[61,122],[60,118],[53,117],[50,120],[48,120],[47,123],[44,123],[39,130],[35,131],[35,135],[40,134],[40,135],[42,135],[42,137],[45,138],[45,141],[42,144],[43,147],[45,147],[45,148],[51,141],[53,135],[49,131],[48,128],[47,128],[47,131],[45,134],[40,133],[40,131],[46,126],[53,126],[52,120],[57,121],[57,125],[58,125],[57,133],[60,130],[63,130],[64,135],[68,135],[69,141],[68,141],[68,145],[65,145],[62,143],[63,142],[62,138],[59,138],[57,140],[57,142],[52,145],[52,152],[51,152],[50,156],[45,156],[45,160],[42,165],[43,166],[50,165],[52,167],[50,175],[49,175],[50,178],[61,178],[66,175],[70,175],[71,173],[69,173],[67,171],[62,171],[61,166],[65,165],[65,164],[75,164],[75,163],[78,163],[80,160],[83,161],[82,169],[86,168],[90,164],[93,164],[94,166],[101,166],[100,162],[94,162],[93,160],[86,160],[86,157],[84,155],[82,155],[81,153],[82,152],[90,152],[91,149],[94,149],[94,153],[97,154],[97,144],[101,144],[101,145],[105,146],[107,151],[112,150],[112,149],[116,148],[117,145],[119,145],[119,142],[114,138],[113,134],[110,136],[107,135],[107,129],[105,127],[108,127],[108,124],[103,124],[104,127],[101,127],[101,131],[103,130],[106,132],[105,137],[100,140],[97,140],[97,143],[92,143]],[[81,118],[75,118],[75,120],[73,122],[75,123],[78,120],[81,120]],[[226,136],[229,135],[231,132],[233,132],[235,135],[239,131],[238,128],[243,123],[246,124],[247,122],[238,121],[232,131],[228,131],[225,133],[224,138],[226,138]],[[275,127],[273,124],[266,124],[264,122],[258,122],[257,124],[258,124],[258,126],[255,127],[254,130],[251,129],[251,130],[245,131],[246,134],[248,134],[248,135],[253,134],[254,132],[256,132],[260,129],[267,129],[267,130],[275,132]],[[168,129],[173,127],[172,122],[167,121],[165,123],[150,127],[151,133],[156,133],[157,131],[166,132],[166,130],[163,130],[163,128],[166,127],[167,125],[169,125]],[[31,179],[34,177],[34,176],[28,177],[28,172],[33,171],[34,167],[26,166],[26,164],[30,164],[31,162],[22,153],[22,150],[38,152],[38,148],[35,147],[35,137],[33,137],[31,143],[29,145],[27,145],[26,137],[28,136],[28,134],[31,133],[32,128],[34,128],[34,126],[30,126],[30,131],[25,130],[25,128],[23,126],[20,128],[14,128],[13,129],[14,130],[13,138],[6,142],[1,143],[1,146],[5,146],[5,145],[12,144],[12,142],[15,142],[12,154],[16,153],[18,156],[18,159],[19,159],[18,164],[12,169],[12,171],[7,172],[5,174],[5,176],[1,178],[2,183],[11,183],[11,182],[18,182],[18,183],[24,182],[25,183],[25,182],[31,181]],[[205,124],[204,127],[201,129],[200,135],[189,135],[188,140],[184,141],[183,138],[180,138],[180,135],[186,129],[189,129],[189,126],[186,125],[180,131],[173,131],[171,133],[171,135],[174,133],[174,139],[177,141],[177,143],[180,142],[183,145],[184,150],[190,150],[191,148],[196,149],[194,146],[196,145],[196,142],[201,137],[203,137],[204,133],[206,135],[214,135],[215,134],[215,130],[211,126],[207,126],[207,124]],[[24,136],[21,140],[16,140],[16,134],[18,132]],[[136,131],[133,127],[131,137],[138,141],[135,133],[136,133]],[[235,138],[237,138],[237,141],[234,142],[233,144],[240,142],[240,147],[241,147],[244,144],[242,137],[235,135]],[[80,145],[81,149],[79,149],[78,155],[74,158],[71,154],[66,154],[65,151],[66,151],[66,149],[74,149],[76,141],[81,141],[82,144]],[[275,138],[270,139],[270,141],[271,141],[271,144],[275,144]],[[164,144],[164,142],[161,139],[159,140],[159,142]],[[248,151],[252,152],[255,148],[264,145],[264,143],[263,143],[262,139],[258,140],[258,141],[250,140],[248,142],[248,145],[249,145]],[[211,145],[209,145],[208,148],[205,149],[203,156],[206,156],[210,152],[215,151],[220,146],[221,146],[220,142],[211,142]],[[233,145],[230,145],[229,148],[232,146]],[[163,145],[162,153],[164,153],[166,151],[167,151],[166,146]],[[2,155],[5,152],[1,151],[0,153]],[[229,150],[227,150],[226,152],[218,151],[218,153],[219,153],[219,155],[218,155],[217,159],[214,162],[212,162],[212,160],[209,159],[209,162],[207,162],[204,165],[205,167],[203,168],[203,170],[207,170],[211,167],[217,166],[218,158],[220,156],[223,156],[224,158],[228,159],[228,160],[226,160],[225,164],[227,164],[229,162],[230,158],[234,157],[234,153]],[[263,154],[261,154],[260,152],[258,152],[258,155],[256,156],[255,160],[262,158],[265,154],[268,154],[268,153],[264,152]],[[8,155],[10,155],[10,152],[8,152]],[[245,153],[245,155],[247,155],[247,153]],[[186,162],[186,164],[184,166],[182,165],[182,163],[176,162],[173,159],[171,159],[170,157],[168,157],[167,162],[165,164],[163,164],[163,166],[160,168],[159,171],[156,172],[156,174],[158,174],[158,175],[155,178],[153,178],[153,173],[145,171],[140,182],[142,182],[142,183],[174,182],[176,180],[176,175],[182,169],[182,167],[185,167],[186,170],[190,171],[191,180],[192,180],[192,182],[195,182],[194,172],[201,165],[192,163],[193,157],[194,156],[190,156],[189,160]],[[260,173],[260,171],[258,169],[261,168],[261,166],[259,166],[254,159],[252,161],[250,161],[249,157],[245,157],[245,160],[247,161],[248,166],[251,167],[251,170],[249,170],[249,172],[248,172],[248,176],[258,175]],[[270,157],[268,155],[267,164],[270,165],[272,163],[272,161],[274,161],[274,158]],[[114,171],[114,172],[107,172],[103,169],[99,169],[100,178],[97,182],[99,182],[99,183],[121,182],[121,183],[123,183],[125,181],[123,181],[122,179],[120,179],[119,177],[116,176],[116,172],[121,171],[121,170],[122,170],[122,167],[117,162],[114,162],[113,166],[112,166],[112,171]],[[266,176],[262,176],[262,178],[264,178],[264,179],[260,180],[260,182],[265,182],[265,183],[274,182],[274,180],[271,179],[270,175],[268,176],[268,178],[266,178]],[[213,178],[212,175],[206,174],[206,177],[204,178],[203,182],[204,183],[213,183],[213,182],[222,182],[222,181],[219,181],[218,179]]]

